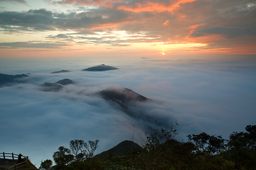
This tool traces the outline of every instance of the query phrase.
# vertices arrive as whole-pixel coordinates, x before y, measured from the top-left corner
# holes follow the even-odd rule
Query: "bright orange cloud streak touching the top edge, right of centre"
[[[135,3],[134,5],[120,5],[117,6],[117,10],[131,11],[135,13],[139,12],[172,12],[173,10],[180,7],[180,4],[185,4],[188,2],[194,2],[197,0],[176,0],[170,4],[164,2],[149,2],[145,1],[143,3]]]

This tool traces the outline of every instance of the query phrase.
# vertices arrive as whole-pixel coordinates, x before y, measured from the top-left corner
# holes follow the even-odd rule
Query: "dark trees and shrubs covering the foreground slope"
[[[41,170],[252,170],[256,169],[256,125],[246,132],[233,132],[229,140],[221,136],[188,135],[188,142],[173,139],[178,123],[169,129],[151,128],[143,148],[134,147],[121,156],[111,152],[103,159],[93,153],[99,140],[71,140],[70,149],[60,146],[52,160],[41,161]]]

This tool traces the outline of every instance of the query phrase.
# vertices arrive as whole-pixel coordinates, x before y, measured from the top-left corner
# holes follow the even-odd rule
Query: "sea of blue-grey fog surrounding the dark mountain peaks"
[[[164,128],[178,121],[175,138],[185,142],[187,135],[201,132],[228,139],[233,131],[255,125],[253,57],[150,58],[1,58],[0,73],[30,73],[20,79],[24,83],[0,88],[1,152],[21,153],[39,167],[73,139],[99,139],[96,154],[124,140],[143,145],[155,121]],[[100,64],[119,70],[82,71]],[[70,72],[50,74],[59,70]],[[65,78],[74,84],[58,92],[39,88]],[[134,117],[97,95],[109,87],[125,87],[152,100],[131,102]]]

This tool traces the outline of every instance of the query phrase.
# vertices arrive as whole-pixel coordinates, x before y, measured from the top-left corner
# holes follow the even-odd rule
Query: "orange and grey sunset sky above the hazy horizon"
[[[255,17],[254,0],[0,0],[0,57],[255,54]]]

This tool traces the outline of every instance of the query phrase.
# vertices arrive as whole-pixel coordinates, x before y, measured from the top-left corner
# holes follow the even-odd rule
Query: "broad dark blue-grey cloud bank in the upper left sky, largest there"
[[[103,15],[109,16],[102,18]],[[91,10],[81,13],[56,13],[46,9],[29,10],[23,12],[2,11],[0,13],[0,26],[9,27],[22,31],[25,28],[33,28],[35,31],[49,31],[56,29],[73,29],[79,30],[81,28],[90,28],[92,26],[104,25],[116,22],[122,22],[124,12],[111,10]],[[16,26],[15,28],[10,26]],[[17,28],[18,26],[18,28]],[[26,30],[25,30],[26,31]],[[90,31],[84,31],[85,34],[95,34]]]

